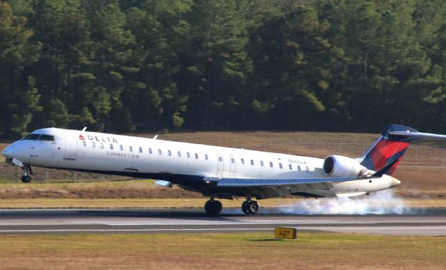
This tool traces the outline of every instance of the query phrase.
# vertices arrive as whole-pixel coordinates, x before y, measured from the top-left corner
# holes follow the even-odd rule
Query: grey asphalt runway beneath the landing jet
[[[446,235],[446,209],[395,215],[233,214],[207,216],[201,209],[3,209],[0,234],[200,233],[328,231],[379,235]]]

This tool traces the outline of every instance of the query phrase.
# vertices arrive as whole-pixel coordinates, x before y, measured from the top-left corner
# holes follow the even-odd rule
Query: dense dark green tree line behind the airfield
[[[446,129],[443,0],[0,0],[0,137]]]

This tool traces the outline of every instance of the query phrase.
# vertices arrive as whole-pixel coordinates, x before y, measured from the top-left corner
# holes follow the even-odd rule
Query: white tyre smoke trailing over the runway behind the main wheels
[[[415,214],[391,189],[370,196],[297,200],[293,205],[263,209],[263,214]]]

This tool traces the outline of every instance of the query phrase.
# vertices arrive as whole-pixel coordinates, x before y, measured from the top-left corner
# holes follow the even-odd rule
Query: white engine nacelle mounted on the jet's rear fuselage
[[[337,155],[325,157],[322,170],[331,177],[357,177],[373,173],[357,160]]]

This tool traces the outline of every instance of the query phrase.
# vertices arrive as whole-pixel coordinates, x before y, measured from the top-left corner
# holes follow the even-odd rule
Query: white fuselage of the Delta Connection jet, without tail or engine
[[[328,177],[322,170],[323,159],[313,157],[58,128],[38,129],[8,146],[2,154],[9,161],[17,159],[30,166],[166,180],[203,193],[233,196],[243,196],[245,191],[212,190],[204,180]],[[394,178],[383,175],[373,181],[337,182],[330,188],[308,186],[296,194],[353,196],[394,185]],[[284,195],[290,194],[278,192],[270,197]]]

